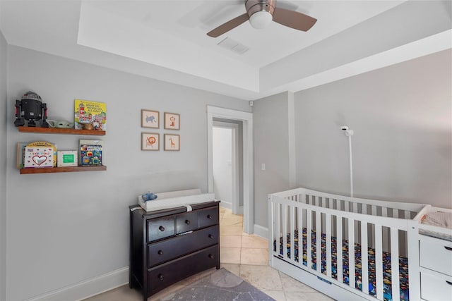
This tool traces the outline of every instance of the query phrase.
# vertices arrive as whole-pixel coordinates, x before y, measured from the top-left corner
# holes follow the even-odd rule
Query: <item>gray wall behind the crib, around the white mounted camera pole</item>
[[[295,94],[297,184],[452,208],[451,50]]]

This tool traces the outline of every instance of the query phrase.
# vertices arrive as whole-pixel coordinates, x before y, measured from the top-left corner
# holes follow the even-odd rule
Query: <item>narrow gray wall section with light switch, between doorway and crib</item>
[[[253,106],[254,222],[267,227],[269,193],[289,189],[287,92],[259,99]],[[261,170],[266,164],[266,170]]]

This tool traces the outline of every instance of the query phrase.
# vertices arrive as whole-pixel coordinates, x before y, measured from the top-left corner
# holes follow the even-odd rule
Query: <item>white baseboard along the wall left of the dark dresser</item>
[[[129,283],[129,266],[73,285],[38,295],[27,301],[78,301]]]

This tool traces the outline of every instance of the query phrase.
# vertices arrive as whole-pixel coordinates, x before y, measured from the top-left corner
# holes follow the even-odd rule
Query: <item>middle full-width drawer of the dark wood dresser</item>
[[[203,228],[175,238],[148,245],[148,267],[162,264],[185,254],[201,250],[219,242],[219,226]]]

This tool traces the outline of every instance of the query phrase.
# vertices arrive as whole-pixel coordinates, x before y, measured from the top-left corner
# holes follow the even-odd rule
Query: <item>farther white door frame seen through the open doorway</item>
[[[239,125],[237,123],[227,123],[222,121],[213,121],[214,128],[227,128],[232,131],[232,199],[231,199],[231,210],[232,214],[243,214],[239,210]],[[213,179],[215,180],[215,179]]]

